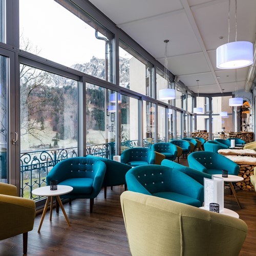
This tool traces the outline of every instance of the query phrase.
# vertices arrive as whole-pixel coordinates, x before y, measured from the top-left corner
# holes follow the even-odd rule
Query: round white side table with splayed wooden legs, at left
[[[40,225],[39,225],[39,228],[38,228],[37,232],[40,232],[40,229],[41,229],[41,226],[42,226],[42,222],[45,219],[45,215],[46,215],[46,211],[47,211],[47,207],[48,207],[50,199],[51,199],[50,221],[52,220],[53,197],[56,197],[56,200],[59,203],[59,206],[60,206],[60,208],[61,208],[61,210],[63,212],[63,215],[65,216],[65,219],[68,222],[68,225],[70,226],[70,222],[69,222],[68,216],[66,214],[66,211],[65,211],[65,209],[63,207],[63,204],[62,204],[59,196],[60,195],[68,194],[72,190],[73,190],[73,187],[65,186],[65,185],[58,185],[58,189],[56,189],[56,190],[50,190],[50,186],[38,187],[38,188],[35,188],[34,190],[32,190],[32,194],[34,194],[36,196],[48,197],[47,200],[46,200],[44,211],[42,212],[42,217],[41,217]]]

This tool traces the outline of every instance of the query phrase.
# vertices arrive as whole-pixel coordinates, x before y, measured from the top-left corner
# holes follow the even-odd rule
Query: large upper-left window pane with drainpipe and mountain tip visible
[[[113,34],[72,2],[20,0],[19,26],[20,49],[113,82]]]

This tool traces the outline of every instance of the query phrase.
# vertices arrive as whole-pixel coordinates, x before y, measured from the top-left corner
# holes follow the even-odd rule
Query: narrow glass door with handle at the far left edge
[[[18,185],[14,77],[14,53],[0,48],[0,182]]]

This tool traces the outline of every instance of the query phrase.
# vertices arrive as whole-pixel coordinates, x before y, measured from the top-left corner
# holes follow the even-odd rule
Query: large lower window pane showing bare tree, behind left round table
[[[77,156],[78,81],[20,65],[20,171],[22,196],[46,185],[59,161]]]

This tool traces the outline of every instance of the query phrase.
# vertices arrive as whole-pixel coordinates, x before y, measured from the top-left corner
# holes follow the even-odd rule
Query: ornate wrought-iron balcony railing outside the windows
[[[121,148],[132,148],[139,145],[138,140],[121,142]],[[152,143],[143,140],[143,146],[150,148]],[[113,159],[115,155],[115,142],[87,145],[86,154]],[[32,194],[37,187],[46,186],[46,176],[58,162],[77,156],[77,147],[57,148],[54,150],[23,152],[20,154],[21,196],[38,200]]]

